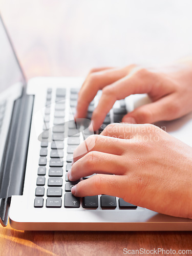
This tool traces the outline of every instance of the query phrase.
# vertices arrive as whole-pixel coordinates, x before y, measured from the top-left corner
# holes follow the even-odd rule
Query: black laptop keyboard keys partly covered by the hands
[[[125,202],[121,198],[108,195],[91,196],[77,198],[72,195],[71,188],[80,180],[69,181],[67,172],[71,168],[73,161],[73,152],[75,148],[93,134],[88,129],[89,120],[95,108],[94,100],[88,108],[87,119],[84,123],[76,123],[74,121],[74,113],[76,111],[78,89],[70,90],[70,101],[66,100],[66,89],[58,88],[54,110],[51,108],[52,90],[48,89],[46,108],[44,116],[43,132],[40,136],[41,147],[39,149],[39,166],[37,168],[37,180],[35,190],[35,208],[87,208],[97,209],[100,205],[101,209],[136,209],[137,206]],[[99,95],[98,95],[99,97]],[[66,122],[66,104],[70,104],[69,121]],[[120,108],[113,108],[113,120],[110,113],[101,125],[98,133],[111,122],[120,122],[124,114],[126,114],[125,101],[120,100]],[[52,113],[54,112],[54,114]],[[53,121],[51,116],[53,116]],[[51,120],[51,121],[50,121]],[[51,127],[51,129],[49,129]],[[64,140],[67,143],[64,143]],[[66,147],[66,150],[65,150]],[[96,174],[94,174],[96,175]],[[93,176],[93,175],[91,175]],[[91,176],[83,177],[89,179]],[[99,204],[100,201],[100,204]]]

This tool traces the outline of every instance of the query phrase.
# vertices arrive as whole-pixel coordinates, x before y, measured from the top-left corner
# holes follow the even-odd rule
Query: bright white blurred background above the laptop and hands
[[[191,0],[0,0],[28,79],[192,55],[191,10]]]

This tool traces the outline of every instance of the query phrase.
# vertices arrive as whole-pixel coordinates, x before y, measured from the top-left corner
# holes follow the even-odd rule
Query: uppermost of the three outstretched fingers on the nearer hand
[[[73,153],[74,162],[91,151],[99,151],[103,153],[121,155],[124,152],[125,141],[118,138],[91,135],[84,140]]]

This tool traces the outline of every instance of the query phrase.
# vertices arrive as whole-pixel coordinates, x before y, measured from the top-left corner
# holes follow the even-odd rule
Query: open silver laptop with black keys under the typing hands
[[[18,230],[192,230],[192,220],[166,216],[117,197],[76,198],[67,172],[73,151],[93,134],[88,116],[74,121],[84,78],[37,77],[28,83],[0,19],[0,221]],[[146,95],[117,101],[101,125],[120,122]],[[192,146],[192,114],[158,123]],[[97,175],[97,174],[95,174]],[[83,177],[82,179],[89,179]]]

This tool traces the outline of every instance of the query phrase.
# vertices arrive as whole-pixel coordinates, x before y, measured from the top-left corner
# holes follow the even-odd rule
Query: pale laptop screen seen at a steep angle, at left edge
[[[0,16],[0,93],[25,78]]]

